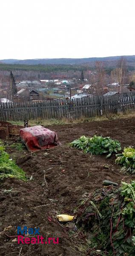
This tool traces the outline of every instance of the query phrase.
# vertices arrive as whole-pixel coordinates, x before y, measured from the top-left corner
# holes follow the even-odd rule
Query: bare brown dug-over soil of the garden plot
[[[69,236],[65,229],[57,224],[56,215],[61,213],[73,215],[80,197],[86,192],[100,188],[104,179],[119,184],[122,179],[131,179],[131,176],[124,176],[120,172],[120,167],[114,163],[114,157],[106,159],[105,156],[84,154],[82,151],[70,148],[68,143],[82,135],[92,137],[97,134],[119,140],[122,147],[135,146],[135,118],[57,125],[48,128],[57,132],[61,146],[30,154],[26,150],[16,151],[10,148],[17,138],[8,140],[6,151],[10,152],[11,157],[15,158],[17,164],[33,179],[28,182],[8,179],[1,184],[0,232],[11,225],[5,233],[8,236],[17,236],[17,226],[39,227],[40,235],[44,237],[59,236],[59,244],[22,246],[17,244],[17,241],[13,241],[15,237],[1,233],[0,256],[89,255],[83,250],[84,239],[78,240],[79,238]],[[109,165],[109,169],[106,169],[106,164]],[[46,182],[44,174],[46,174]],[[132,179],[135,179],[135,175],[132,175]],[[13,190],[6,193],[4,189]],[[50,221],[48,216],[56,223]]]

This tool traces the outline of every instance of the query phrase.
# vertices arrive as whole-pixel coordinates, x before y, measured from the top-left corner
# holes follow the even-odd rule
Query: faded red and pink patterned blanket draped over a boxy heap
[[[20,129],[20,137],[29,151],[38,151],[60,145],[57,133],[41,125]]]

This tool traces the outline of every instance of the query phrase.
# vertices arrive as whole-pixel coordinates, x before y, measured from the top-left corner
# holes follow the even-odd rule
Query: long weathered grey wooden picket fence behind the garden
[[[135,110],[135,93],[43,102],[0,103],[0,120],[78,118]]]

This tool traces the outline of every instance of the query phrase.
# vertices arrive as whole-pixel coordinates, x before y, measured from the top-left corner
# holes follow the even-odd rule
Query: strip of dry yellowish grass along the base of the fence
[[[95,116],[95,117],[85,117],[81,116],[78,119],[67,119],[67,118],[62,118],[62,119],[33,119],[29,120],[29,125],[34,126],[34,125],[43,125],[43,126],[48,126],[48,125],[66,125],[66,124],[71,124],[71,123],[83,123],[83,122],[100,122],[100,121],[106,121],[106,120],[115,120],[115,119],[130,119],[135,117],[135,111],[129,112],[126,111],[126,113],[120,113],[120,114],[106,114],[103,116]],[[23,121],[10,121],[14,125],[24,125]]]

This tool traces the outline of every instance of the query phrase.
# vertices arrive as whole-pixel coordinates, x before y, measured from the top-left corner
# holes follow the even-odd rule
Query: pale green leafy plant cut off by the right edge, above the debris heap
[[[122,154],[116,154],[115,163],[123,165],[122,170],[135,173],[135,149],[124,148]]]

